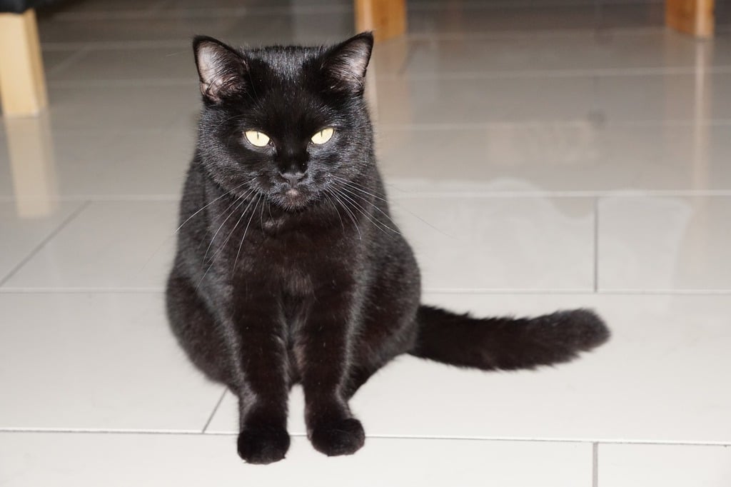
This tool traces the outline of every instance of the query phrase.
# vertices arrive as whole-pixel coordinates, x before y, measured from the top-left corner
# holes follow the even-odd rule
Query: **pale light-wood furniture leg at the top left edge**
[[[48,105],[34,10],[0,13],[0,102],[4,116],[34,116]]]

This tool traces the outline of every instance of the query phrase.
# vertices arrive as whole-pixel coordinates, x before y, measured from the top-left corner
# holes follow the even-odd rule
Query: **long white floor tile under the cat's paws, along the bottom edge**
[[[243,464],[228,436],[0,433],[0,458],[9,487],[591,485],[591,445],[581,444],[368,438],[328,458],[299,437],[287,458],[259,466]]]

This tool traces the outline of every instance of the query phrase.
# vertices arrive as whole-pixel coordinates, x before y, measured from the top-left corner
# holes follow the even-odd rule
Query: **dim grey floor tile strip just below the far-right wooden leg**
[[[695,69],[698,60],[718,66],[731,64],[731,39],[698,43],[676,31],[644,31],[616,35],[567,31],[564,35],[529,31],[522,36],[476,39],[410,39],[412,53],[406,72],[437,76],[455,72],[586,72],[631,69]]]

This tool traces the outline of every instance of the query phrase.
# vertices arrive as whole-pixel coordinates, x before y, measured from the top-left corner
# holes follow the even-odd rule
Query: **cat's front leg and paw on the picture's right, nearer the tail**
[[[354,294],[345,286],[317,295],[295,338],[308,437],[316,450],[328,456],[355,453],[366,441],[363,426],[353,417],[345,397],[352,367]]]

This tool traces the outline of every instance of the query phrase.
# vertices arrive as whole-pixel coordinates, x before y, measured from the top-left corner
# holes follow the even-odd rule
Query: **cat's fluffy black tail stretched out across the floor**
[[[417,322],[419,334],[411,355],[482,370],[567,362],[610,337],[602,319],[588,309],[535,318],[473,318],[420,306]]]

